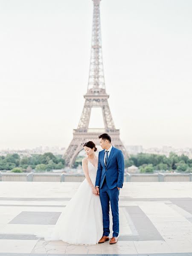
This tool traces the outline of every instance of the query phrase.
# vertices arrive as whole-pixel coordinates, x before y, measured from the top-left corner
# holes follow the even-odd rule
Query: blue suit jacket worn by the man
[[[124,157],[122,151],[112,147],[108,157],[107,166],[104,163],[105,149],[99,152],[98,169],[95,186],[102,187],[106,177],[109,189],[122,188],[124,181]]]

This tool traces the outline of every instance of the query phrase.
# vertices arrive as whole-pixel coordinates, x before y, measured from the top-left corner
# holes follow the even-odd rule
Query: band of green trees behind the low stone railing
[[[73,167],[76,168],[81,164],[83,157],[77,157]],[[182,154],[171,152],[169,157],[158,154],[131,155],[125,160],[125,168],[129,166],[137,166],[140,172],[154,171],[176,171],[176,172],[192,172],[192,159]],[[33,154],[30,157],[20,157],[18,154],[7,154],[0,156],[0,170],[12,170],[12,172],[36,172],[51,171],[52,169],[62,169],[65,167],[65,160],[61,155],[54,155],[50,152],[45,154]]]

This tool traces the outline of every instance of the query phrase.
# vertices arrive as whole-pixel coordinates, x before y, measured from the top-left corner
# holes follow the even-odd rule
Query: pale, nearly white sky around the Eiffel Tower
[[[192,1],[102,0],[100,10],[123,143],[192,147]],[[92,15],[91,0],[0,0],[0,148],[69,145],[87,91]]]

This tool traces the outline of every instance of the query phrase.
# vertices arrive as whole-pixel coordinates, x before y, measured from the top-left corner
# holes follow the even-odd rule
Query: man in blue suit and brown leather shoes
[[[99,244],[109,240],[109,202],[113,216],[113,237],[110,244],[116,244],[119,235],[119,190],[124,180],[124,158],[122,151],[111,145],[111,137],[101,134],[99,142],[102,151],[99,152],[96,176],[96,191],[100,195],[103,212],[103,236]]]

